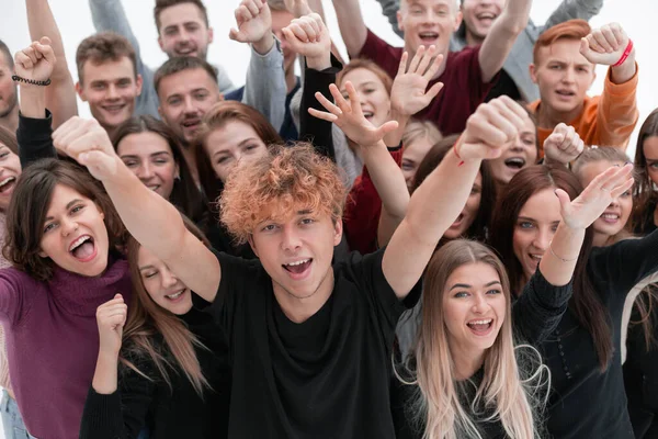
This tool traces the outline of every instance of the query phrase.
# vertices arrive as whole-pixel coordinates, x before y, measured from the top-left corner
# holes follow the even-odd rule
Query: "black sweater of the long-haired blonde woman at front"
[[[554,286],[537,269],[523,289],[523,294],[512,306],[514,336],[524,344],[538,346],[559,324],[561,316],[567,311],[571,292],[571,283],[565,286]],[[534,371],[521,371],[523,374],[529,374],[529,372],[533,373]],[[503,439],[507,436],[500,419],[486,420],[494,414],[494,407],[481,406],[478,407],[479,414],[474,414],[469,406],[483,378],[484,368],[470,379],[457,384],[462,395],[462,406],[466,413],[473,416],[483,439]],[[410,412],[418,392],[417,385],[402,384],[397,376],[393,378],[392,412],[397,439],[422,438],[424,427],[415,424],[413,418],[417,414]]]

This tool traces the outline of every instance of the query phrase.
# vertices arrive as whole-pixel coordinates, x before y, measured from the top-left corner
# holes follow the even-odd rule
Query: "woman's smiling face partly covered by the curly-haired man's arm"
[[[145,247],[139,247],[137,267],[144,289],[154,302],[175,315],[183,315],[192,309],[190,289]]]

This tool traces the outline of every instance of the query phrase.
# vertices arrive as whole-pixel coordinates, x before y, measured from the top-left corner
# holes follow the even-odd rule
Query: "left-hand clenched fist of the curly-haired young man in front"
[[[114,176],[121,162],[107,132],[94,119],[69,119],[53,133],[53,144],[101,181]]]

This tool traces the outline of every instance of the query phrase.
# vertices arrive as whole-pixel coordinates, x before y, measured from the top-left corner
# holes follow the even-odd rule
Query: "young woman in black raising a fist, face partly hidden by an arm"
[[[144,427],[151,439],[226,438],[230,369],[223,331],[192,307],[192,291],[167,264],[133,238],[127,258],[131,314],[120,294],[97,311],[100,349],[80,438],[137,438]]]

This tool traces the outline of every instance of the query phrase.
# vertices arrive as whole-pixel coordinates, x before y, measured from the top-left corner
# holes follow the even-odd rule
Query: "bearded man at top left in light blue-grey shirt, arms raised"
[[[263,1],[258,0],[261,3]],[[113,31],[124,35],[132,43],[137,54],[137,71],[144,78],[141,95],[137,99],[136,114],[151,114],[159,117],[158,93],[154,88],[154,70],[141,60],[139,43],[133,34],[128,18],[121,0],[89,0],[91,16],[97,31]],[[269,13],[269,9],[268,9]],[[196,56],[205,60],[208,45],[213,42],[214,32],[208,25],[205,5],[201,0],[157,0],[154,9],[158,29],[158,44],[167,56]],[[286,95],[286,85],[283,69],[283,55],[280,44],[252,44],[249,69],[258,71],[258,78],[247,76],[242,103],[260,111],[270,123],[279,130],[282,125],[285,108],[274,102],[283,102]],[[220,66],[217,69],[219,91],[226,93],[234,89],[228,75]]]

